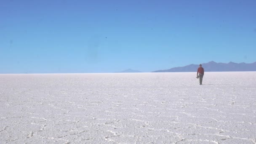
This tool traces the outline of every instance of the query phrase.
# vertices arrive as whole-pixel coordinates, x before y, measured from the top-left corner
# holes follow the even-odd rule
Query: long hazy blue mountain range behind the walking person
[[[196,72],[199,64],[189,64],[184,67],[174,67],[171,69],[157,70],[154,72]],[[208,63],[202,64],[202,67],[206,72],[243,72],[243,71],[256,71],[256,62],[252,64],[246,63],[216,63],[210,61]]]

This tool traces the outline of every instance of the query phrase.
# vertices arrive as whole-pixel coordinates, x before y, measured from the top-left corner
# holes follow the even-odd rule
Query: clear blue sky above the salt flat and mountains
[[[0,0],[0,73],[256,61],[256,0]]]

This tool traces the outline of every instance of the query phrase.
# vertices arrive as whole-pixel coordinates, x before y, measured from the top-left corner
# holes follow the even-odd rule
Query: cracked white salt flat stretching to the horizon
[[[256,72],[0,75],[0,143],[256,144]]]

